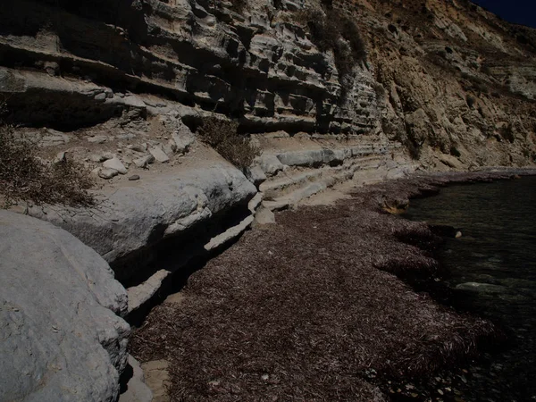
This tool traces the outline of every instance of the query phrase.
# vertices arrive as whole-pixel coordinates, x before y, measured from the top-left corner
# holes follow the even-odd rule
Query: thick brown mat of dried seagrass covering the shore
[[[399,208],[448,184],[531,173],[508,169],[413,175],[355,188],[352,198],[334,206],[282,212],[276,225],[250,230],[195,272],[180,291],[180,304],[157,306],[135,332],[131,353],[141,362],[168,361],[177,399],[293,395],[322,400],[351,395],[385,400],[374,385],[378,379],[431,375],[454,366],[475,356],[477,345],[498,332],[490,322],[440,306],[399,279],[437,273],[439,264],[427,247],[438,240],[425,223],[403,221],[381,207]],[[370,239],[358,239],[363,235]],[[338,240],[326,241],[330,239]],[[364,252],[356,252],[358,247]],[[358,283],[364,280],[375,292]],[[341,292],[347,297],[340,297]],[[333,303],[338,309],[329,305]],[[339,316],[341,311],[347,314]],[[350,323],[354,330],[341,328]],[[165,339],[158,345],[147,343],[162,334]],[[350,345],[353,357],[345,364]],[[302,373],[292,373],[296,370]]]

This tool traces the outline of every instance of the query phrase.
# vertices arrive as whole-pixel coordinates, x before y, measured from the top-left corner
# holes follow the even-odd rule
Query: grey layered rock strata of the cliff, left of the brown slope
[[[241,13],[230,3],[188,0],[6,5],[2,83],[17,122],[64,130],[137,107],[145,117],[144,105],[125,103],[130,92],[239,117],[247,131],[374,125],[371,74],[359,74],[363,90],[353,96],[366,107],[338,105],[331,55],[314,48],[292,13],[278,21],[272,2]]]

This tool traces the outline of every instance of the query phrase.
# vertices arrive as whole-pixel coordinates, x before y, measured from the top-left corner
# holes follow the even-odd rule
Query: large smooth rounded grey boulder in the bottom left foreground
[[[114,401],[127,294],[63,229],[0,211],[0,400]]]

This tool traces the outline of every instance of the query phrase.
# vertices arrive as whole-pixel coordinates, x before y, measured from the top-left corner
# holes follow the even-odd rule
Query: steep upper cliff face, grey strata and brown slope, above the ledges
[[[304,8],[356,21],[368,57],[344,80]],[[534,30],[470,2],[8,0],[0,13],[0,91],[23,125],[195,128],[221,113],[246,133],[386,134],[426,167],[533,161]]]

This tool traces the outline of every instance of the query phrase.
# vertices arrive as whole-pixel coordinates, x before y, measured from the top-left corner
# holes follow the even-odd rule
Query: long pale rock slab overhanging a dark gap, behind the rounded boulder
[[[214,214],[246,207],[255,193],[242,172],[216,163],[162,174],[143,187],[117,188],[95,208],[42,205],[30,207],[29,214],[69,230],[114,263],[208,222]]]

